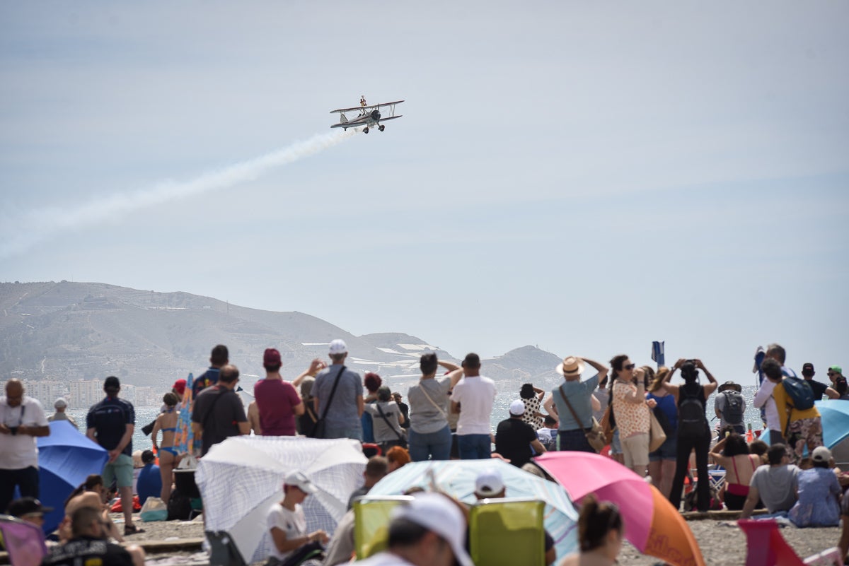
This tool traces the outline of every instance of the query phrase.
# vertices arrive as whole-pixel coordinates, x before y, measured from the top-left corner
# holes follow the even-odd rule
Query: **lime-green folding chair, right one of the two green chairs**
[[[469,508],[469,554],[475,564],[545,564],[545,502],[485,499]]]

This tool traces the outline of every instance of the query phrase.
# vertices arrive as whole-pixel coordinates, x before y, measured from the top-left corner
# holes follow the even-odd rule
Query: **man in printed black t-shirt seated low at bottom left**
[[[133,547],[132,552],[139,560],[134,562],[130,552],[108,541],[101,513],[90,507],[77,509],[70,518],[73,538],[63,545],[51,547],[42,560],[42,566],[139,566],[144,563],[144,551]]]

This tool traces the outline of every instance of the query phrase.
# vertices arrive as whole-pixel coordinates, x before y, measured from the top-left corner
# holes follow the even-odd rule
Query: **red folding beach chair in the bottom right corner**
[[[832,547],[804,560],[781,535],[773,519],[737,521],[746,537],[745,566],[842,566],[841,552]]]

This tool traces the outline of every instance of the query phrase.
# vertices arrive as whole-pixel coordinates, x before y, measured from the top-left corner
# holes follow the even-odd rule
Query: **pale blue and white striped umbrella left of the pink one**
[[[577,551],[578,513],[563,486],[501,460],[411,462],[386,475],[368,490],[368,495],[401,495],[414,486],[431,491],[432,478],[441,491],[464,503],[474,503],[477,501],[475,479],[486,469],[498,470],[507,488],[507,497],[531,497],[545,502],[545,530],[554,538],[558,560]]]

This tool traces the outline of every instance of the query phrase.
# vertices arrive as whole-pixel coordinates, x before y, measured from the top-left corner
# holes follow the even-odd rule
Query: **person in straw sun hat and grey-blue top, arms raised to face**
[[[582,381],[585,363],[599,373]],[[567,356],[554,370],[565,379],[563,384],[551,391],[551,397],[545,402],[545,410],[559,422],[557,449],[595,452],[587,441],[585,430],[593,426],[593,411],[599,408],[599,400],[593,397],[593,391],[599,386],[599,379],[607,375],[608,368],[589,358]]]

